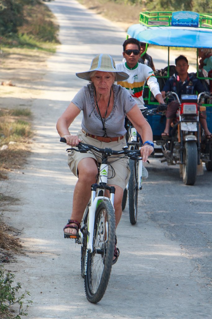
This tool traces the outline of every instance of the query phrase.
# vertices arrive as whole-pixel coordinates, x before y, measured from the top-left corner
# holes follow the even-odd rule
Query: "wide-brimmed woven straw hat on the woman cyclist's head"
[[[90,70],[76,73],[76,76],[91,81],[90,75],[93,71],[114,72],[115,81],[123,81],[129,78],[127,73],[116,70],[115,62],[109,54],[98,54],[93,58]]]

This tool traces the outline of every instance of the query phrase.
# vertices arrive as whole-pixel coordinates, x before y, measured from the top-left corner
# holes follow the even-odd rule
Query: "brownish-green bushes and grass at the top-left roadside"
[[[54,52],[59,27],[41,0],[0,0],[1,49],[24,47]]]

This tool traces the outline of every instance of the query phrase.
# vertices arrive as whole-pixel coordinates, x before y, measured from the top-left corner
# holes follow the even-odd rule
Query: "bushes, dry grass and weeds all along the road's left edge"
[[[54,16],[43,1],[0,0],[2,74],[13,70],[18,77],[17,70],[22,63],[27,63],[28,67],[32,60],[33,63],[43,63],[56,50],[58,30]],[[23,83],[24,77],[19,81]],[[11,86],[11,90],[15,86],[10,80],[0,85]],[[8,90],[6,92],[10,94]],[[15,254],[24,253],[18,238],[20,230],[8,226],[3,219],[5,206],[18,204],[19,199],[10,189],[5,191],[2,185],[9,178],[8,172],[19,170],[27,163],[33,137],[31,120],[32,113],[27,105],[25,108],[0,108],[0,263],[10,259],[14,261]],[[32,303],[29,296],[21,283],[15,281],[15,275],[0,264],[0,318],[21,319],[27,316],[27,308]]]

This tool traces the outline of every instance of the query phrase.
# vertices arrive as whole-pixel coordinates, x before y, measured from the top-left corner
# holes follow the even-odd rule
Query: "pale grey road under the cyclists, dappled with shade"
[[[34,303],[28,317],[210,319],[211,199],[198,194],[201,187],[211,187],[211,175],[205,172],[197,186],[185,187],[176,168],[158,164],[156,159],[151,160],[149,178],[139,197],[137,224],[131,226],[128,210],[123,212],[117,229],[120,257],[113,266],[105,296],[97,305],[86,300],[80,247],[63,238],[76,178],[66,164],[66,146],[59,143],[55,124],[86,84],[75,73],[88,70],[93,56],[102,52],[120,62],[125,32],[114,32],[111,22],[91,14],[74,0],[55,0],[48,5],[58,18],[62,45],[48,60],[43,78],[31,83],[36,136],[29,164],[11,172],[10,181],[4,184],[21,199],[20,205],[8,207],[4,215],[11,225],[23,228],[20,236],[26,256],[18,256],[18,262],[7,268],[31,293]],[[72,132],[79,129],[80,121],[79,116]],[[195,198],[202,200],[199,216]],[[173,203],[180,200],[180,208],[173,208]],[[174,211],[179,218],[185,214],[175,231]],[[180,227],[183,218],[187,218],[188,226],[186,213],[192,212],[200,217],[195,225],[202,223],[205,234],[198,246],[205,268],[197,261],[201,251],[194,244],[192,232],[187,238],[188,228]],[[200,227],[196,228],[200,234]]]

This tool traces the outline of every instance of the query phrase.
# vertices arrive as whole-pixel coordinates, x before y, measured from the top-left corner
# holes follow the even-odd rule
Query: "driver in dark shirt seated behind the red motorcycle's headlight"
[[[195,91],[198,93],[204,92],[205,87],[202,85],[201,81],[196,78],[194,73],[188,73],[188,60],[185,56],[178,56],[175,59],[176,64],[176,73],[170,77],[161,91],[163,98],[167,92],[175,92],[178,94],[179,98],[181,98],[181,94],[195,94]],[[176,100],[171,101],[168,104],[166,111],[166,127],[164,132],[161,134],[163,138],[169,137],[169,130],[172,121],[176,116],[176,111],[179,108],[179,103]],[[207,122],[206,122],[206,112],[199,113],[199,121],[202,125],[202,128],[205,132],[205,137],[207,139],[212,138],[212,134],[210,133]]]

